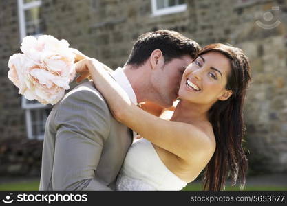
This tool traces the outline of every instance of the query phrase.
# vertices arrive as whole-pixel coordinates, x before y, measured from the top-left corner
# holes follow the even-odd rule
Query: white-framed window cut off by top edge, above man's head
[[[151,0],[153,16],[173,14],[187,10],[184,0]]]

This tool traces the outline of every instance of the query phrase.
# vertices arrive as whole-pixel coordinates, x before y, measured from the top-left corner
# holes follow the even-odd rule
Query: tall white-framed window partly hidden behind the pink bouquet
[[[41,20],[41,0],[18,0],[20,40],[25,36],[43,34]],[[22,96],[22,108],[25,109],[26,129],[29,139],[43,139],[45,121],[50,107],[36,100],[27,100]]]

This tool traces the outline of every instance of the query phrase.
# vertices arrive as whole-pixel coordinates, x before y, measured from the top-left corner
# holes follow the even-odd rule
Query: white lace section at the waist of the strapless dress
[[[116,190],[120,191],[145,191],[156,190],[153,186],[140,179],[134,179],[124,174],[119,174],[116,181]]]

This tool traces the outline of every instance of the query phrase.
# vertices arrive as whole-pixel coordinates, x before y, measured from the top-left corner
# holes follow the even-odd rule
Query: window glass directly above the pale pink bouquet
[[[36,35],[43,32],[41,22],[40,7],[25,10],[26,35]]]

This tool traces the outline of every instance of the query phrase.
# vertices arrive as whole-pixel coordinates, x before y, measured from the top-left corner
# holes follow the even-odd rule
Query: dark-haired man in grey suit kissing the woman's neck
[[[167,108],[199,49],[178,32],[148,32],[111,76],[134,104],[149,101]],[[78,85],[47,118],[39,190],[115,190],[132,140],[132,131],[114,119],[94,84]]]

